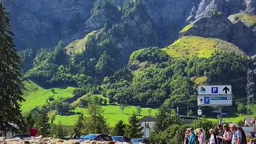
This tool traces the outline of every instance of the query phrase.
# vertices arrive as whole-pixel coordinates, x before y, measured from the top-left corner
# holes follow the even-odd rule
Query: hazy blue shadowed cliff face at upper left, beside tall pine
[[[14,27],[18,50],[51,47],[60,39],[73,41],[84,35],[83,23],[90,17],[94,0],[0,0]]]

